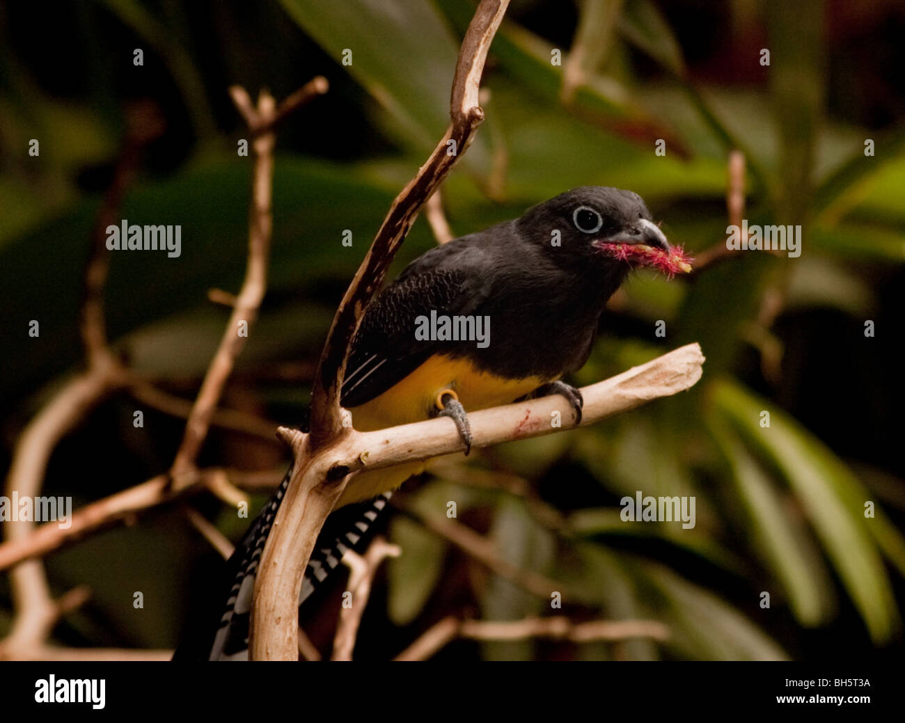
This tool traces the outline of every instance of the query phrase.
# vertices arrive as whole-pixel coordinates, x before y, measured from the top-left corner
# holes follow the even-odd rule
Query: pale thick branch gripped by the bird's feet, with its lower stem
[[[657,357],[647,364],[635,366],[621,375],[584,387],[581,390],[585,398],[582,425],[598,422],[607,416],[633,409],[652,399],[678,394],[691,388],[700,379],[703,362],[700,346],[689,344]],[[561,426],[554,425],[553,422],[557,418]],[[575,425],[571,407],[558,395],[484,409],[470,414],[469,420],[472,427],[472,447],[528,439]],[[298,548],[304,547],[303,564],[307,564],[319,528],[329,511],[333,509],[342,490],[342,486],[334,483],[339,476],[348,475],[351,471],[379,469],[404,461],[424,460],[450,452],[462,452],[463,449],[462,439],[455,425],[447,419],[432,419],[376,432],[357,432],[348,429],[340,442],[313,458],[306,457],[308,434],[285,427],[281,427],[280,433],[281,438],[291,445],[296,459],[293,480],[281,505],[281,509],[292,510],[292,516],[281,520],[278,513],[277,521],[282,522],[283,527],[278,525],[274,528],[271,540],[273,535],[280,533],[286,536],[281,540],[281,545],[288,546],[281,550],[281,554],[286,556],[297,553]],[[306,519],[300,514],[300,510],[305,509],[308,509],[312,516],[322,514],[323,517],[312,522],[311,518]],[[285,559],[282,564],[279,560],[268,559],[266,551],[264,559],[272,566],[270,569],[279,570],[281,576],[295,574],[294,566],[290,567]],[[292,627],[295,616],[279,607],[275,596],[278,593],[284,596],[282,604],[294,604],[294,591],[298,590],[301,580],[299,578],[298,583],[291,577],[289,580],[290,585],[285,586],[278,585],[278,582],[281,582],[280,578],[268,580],[266,596],[262,596],[260,587],[256,588],[254,608],[257,611],[259,605],[266,605],[268,608],[266,614],[269,616],[266,619],[273,621],[268,624],[281,626],[282,634],[290,636],[288,640],[292,645],[291,652],[281,653],[285,654],[286,660],[291,660],[296,650]],[[537,581],[529,582],[527,585],[534,591],[544,589],[545,595],[549,594],[550,589],[557,589],[548,588],[547,581],[537,585],[536,583]],[[260,576],[258,584],[261,584]],[[274,618],[279,617],[278,611],[284,616],[282,622],[274,621]],[[286,620],[289,621],[288,624],[285,623]],[[279,632],[279,627],[274,627],[270,631],[276,632]],[[254,653],[259,660],[282,650],[282,645],[286,644],[285,639],[281,641],[275,635],[268,635],[266,640],[268,647]]]

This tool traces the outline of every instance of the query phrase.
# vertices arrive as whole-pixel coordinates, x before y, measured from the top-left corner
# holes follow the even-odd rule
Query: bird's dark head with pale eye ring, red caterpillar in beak
[[[625,271],[651,266],[672,277],[691,271],[691,259],[673,246],[640,195],[607,186],[581,186],[529,208],[519,233],[541,244],[550,258]]]

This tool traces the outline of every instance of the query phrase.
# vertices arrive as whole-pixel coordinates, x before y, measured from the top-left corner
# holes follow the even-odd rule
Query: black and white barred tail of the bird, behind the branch
[[[280,509],[283,496],[289,486],[292,467],[280,483],[271,500],[258,513],[242,542],[236,546],[227,565],[233,572],[233,586],[229,591],[224,612],[214,634],[199,642],[188,643],[176,651],[174,660],[205,659],[209,661],[247,661],[248,633],[252,614],[254,579],[264,551],[264,543],[270,534],[273,518]],[[299,592],[299,604],[308,597],[336,569],[342,557],[350,549],[361,547],[371,525],[386,507],[392,492],[386,492],[367,502],[348,505],[334,512],[320,530],[311,552],[305,576]]]

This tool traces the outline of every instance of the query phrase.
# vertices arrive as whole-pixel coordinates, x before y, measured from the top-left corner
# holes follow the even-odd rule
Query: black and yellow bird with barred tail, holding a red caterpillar
[[[424,253],[368,305],[352,342],[341,404],[362,431],[446,416],[471,447],[468,413],[523,397],[562,395],[581,419],[582,397],[560,377],[591,353],[606,301],[637,266],[691,271],[641,196],[583,186]],[[310,595],[365,533],[389,493],[425,462],[362,471],[321,531],[300,590]],[[254,574],[280,489],[236,548],[219,626],[185,657],[247,659]],[[177,654],[177,657],[183,657]]]

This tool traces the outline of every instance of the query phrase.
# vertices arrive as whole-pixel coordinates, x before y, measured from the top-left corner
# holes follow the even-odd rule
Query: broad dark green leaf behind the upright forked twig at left
[[[120,217],[134,224],[181,225],[182,249],[175,258],[166,252],[111,252],[105,304],[111,339],[179,311],[210,309],[206,294],[212,287],[238,289],[250,186],[249,160],[231,157],[195,163],[129,193]],[[325,278],[350,279],[393,195],[363,180],[355,166],[278,156],[268,291],[299,294]],[[81,269],[98,203],[96,197],[85,199],[0,246],[6,300],[0,332],[14,340],[14,353],[0,356],[0,397],[43,383],[81,358]],[[351,248],[340,244],[344,229],[353,232]],[[425,225],[414,228],[398,267],[433,243]],[[338,298],[324,301],[331,305]],[[40,338],[20,333],[30,319],[40,322]]]

